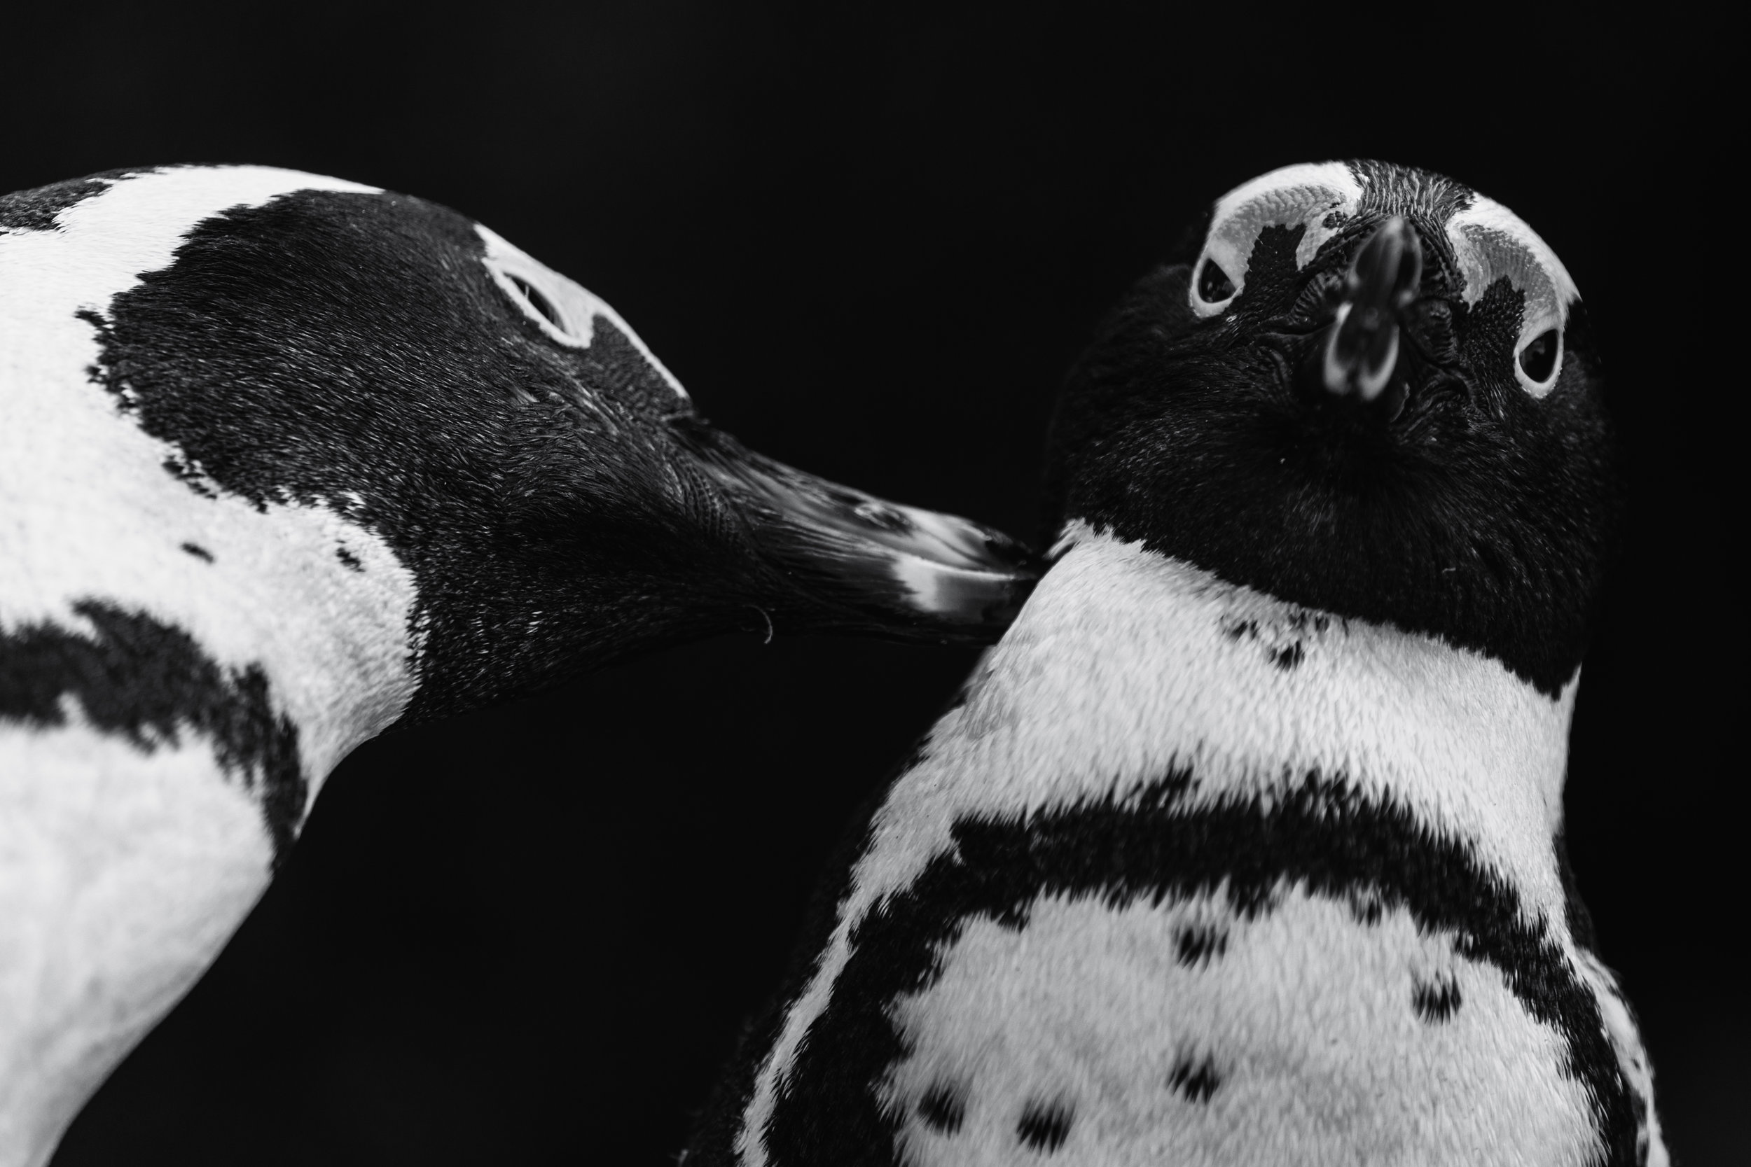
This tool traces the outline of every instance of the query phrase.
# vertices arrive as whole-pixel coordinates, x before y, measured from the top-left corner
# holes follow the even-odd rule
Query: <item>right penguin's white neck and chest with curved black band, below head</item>
[[[1565,927],[1574,682],[1073,537],[876,812],[742,1160],[1592,1162],[1634,1032]]]

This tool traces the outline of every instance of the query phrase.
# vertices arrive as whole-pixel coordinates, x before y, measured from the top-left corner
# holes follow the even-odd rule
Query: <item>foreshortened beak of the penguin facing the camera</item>
[[[1375,401],[1399,364],[1399,318],[1422,287],[1422,243],[1394,215],[1355,254],[1326,339],[1326,388]]]

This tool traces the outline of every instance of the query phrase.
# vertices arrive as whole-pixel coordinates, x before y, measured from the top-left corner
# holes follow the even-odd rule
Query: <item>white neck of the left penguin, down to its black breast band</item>
[[[184,698],[203,686],[154,672],[163,653],[142,651],[138,667],[130,663],[130,644],[144,649],[145,640],[117,642],[91,612],[187,647],[189,675],[217,677],[221,688],[249,679],[273,717],[296,726],[299,768],[313,793],[413,693],[413,577],[369,527],[357,495],[278,490],[256,504],[149,432],[152,409],[207,425],[207,437],[254,430],[236,429],[247,425],[243,397],[238,416],[215,422],[142,399],[126,376],[102,374],[109,325],[93,308],[112,313],[142,273],[170,269],[193,227],[226,208],[289,191],[371,187],[259,168],[179,168],[103,184],[103,192],[67,208],[54,231],[0,234],[0,635],[60,642],[63,658],[102,661],[82,681],[109,691],[63,689],[58,696],[72,696],[65,705],[75,712],[49,721],[74,731],[102,700],[110,716],[95,721],[109,728],[98,724],[93,737],[137,747],[144,759],[193,752],[205,724],[242,723],[193,716]],[[142,334],[158,327],[163,322],[142,324]],[[320,443],[273,437],[264,448],[273,458],[324,457]],[[35,668],[16,658],[14,667]],[[30,693],[54,688],[37,672],[23,679]],[[138,724],[124,712],[130,702],[163,712],[173,731]],[[47,731],[11,724],[23,724],[14,737]],[[7,726],[0,717],[0,730]],[[219,754],[236,759],[235,749]]]

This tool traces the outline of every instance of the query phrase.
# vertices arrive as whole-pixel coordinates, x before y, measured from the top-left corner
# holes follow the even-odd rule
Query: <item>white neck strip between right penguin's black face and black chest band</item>
[[[1187,807],[1268,803],[1317,775],[1466,842],[1560,913],[1574,681],[1551,700],[1478,653],[1285,604],[1082,523],[1059,546],[888,822],[1122,803],[1163,782],[1185,782]]]

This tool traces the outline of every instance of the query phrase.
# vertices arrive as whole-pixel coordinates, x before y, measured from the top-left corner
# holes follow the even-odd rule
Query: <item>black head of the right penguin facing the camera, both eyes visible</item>
[[[1072,371],[1054,520],[1429,633],[1557,695],[1618,479],[1574,282],[1441,175],[1287,166],[1227,192]]]

